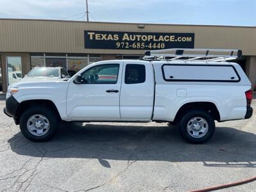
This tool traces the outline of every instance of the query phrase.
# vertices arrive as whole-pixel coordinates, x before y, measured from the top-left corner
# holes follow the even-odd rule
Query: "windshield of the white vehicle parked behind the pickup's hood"
[[[28,74],[28,77],[59,77],[59,76],[60,76],[59,68],[47,68],[47,67],[34,68]]]

